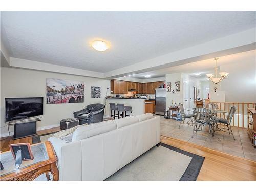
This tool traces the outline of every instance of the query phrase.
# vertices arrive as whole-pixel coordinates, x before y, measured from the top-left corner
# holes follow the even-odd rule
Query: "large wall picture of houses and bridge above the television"
[[[46,79],[46,103],[82,103],[84,82],[63,79]]]

